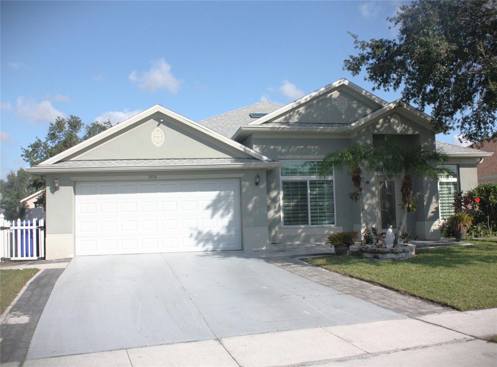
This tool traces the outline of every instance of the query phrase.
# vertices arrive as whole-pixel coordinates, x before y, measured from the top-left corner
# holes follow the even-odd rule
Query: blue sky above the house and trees
[[[118,122],[159,103],[199,121],[341,77],[371,90],[342,70],[347,31],[395,37],[386,17],[400,4],[1,1],[1,176],[60,115]]]

